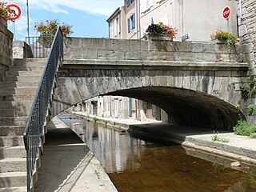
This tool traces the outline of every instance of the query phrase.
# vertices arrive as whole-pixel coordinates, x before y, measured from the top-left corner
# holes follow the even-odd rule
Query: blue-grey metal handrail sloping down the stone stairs
[[[26,122],[23,133],[23,140],[26,149],[26,171],[27,171],[27,191],[30,191],[38,149],[42,144],[42,130],[47,118],[47,110],[50,107],[51,94],[54,79],[57,74],[59,63],[63,61],[63,34],[58,28],[54,41],[50,47],[50,54],[46,60],[42,78],[39,82],[38,90],[31,106],[30,115]]]

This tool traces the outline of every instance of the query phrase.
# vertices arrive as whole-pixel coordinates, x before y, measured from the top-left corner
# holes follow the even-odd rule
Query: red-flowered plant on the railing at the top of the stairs
[[[58,26],[60,26],[64,37],[73,34],[74,31],[71,30],[72,26],[62,22],[62,25],[59,25],[58,20],[46,20],[46,22],[36,22],[34,26],[34,30],[40,33],[40,37],[38,38],[38,42],[42,44],[42,46],[50,48],[51,42],[53,41],[54,34],[58,30]]]

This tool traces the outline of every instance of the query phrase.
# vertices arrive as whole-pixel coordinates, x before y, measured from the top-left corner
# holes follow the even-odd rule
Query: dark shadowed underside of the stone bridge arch
[[[138,98],[161,107],[173,125],[232,130],[239,115],[234,106],[194,90],[171,87],[142,87],[118,90],[109,95]]]

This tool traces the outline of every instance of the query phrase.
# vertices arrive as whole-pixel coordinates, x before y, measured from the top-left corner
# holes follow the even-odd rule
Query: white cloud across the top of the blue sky
[[[18,3],[26,4],[26,0],[18,0]],[[68,14],[67,8],[72,8],[106,16],[113,14],[114,10],[122,4],[122,0],[29,0],[30,9],[34,10],[49,10],[54,13]]]

